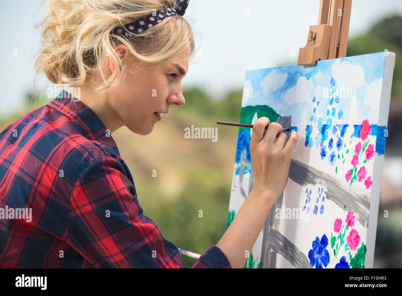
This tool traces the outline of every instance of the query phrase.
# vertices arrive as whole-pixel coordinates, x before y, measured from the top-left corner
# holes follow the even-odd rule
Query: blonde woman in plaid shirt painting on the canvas
[[[183,267],[178,248],[143,214],[111,134],[127,126],[148,135],[159,114],[184,105],[181,79],[194,53],[182,17],[188,4],[47,1],[37,72],[76,91],[0,133],[0,205],[31,213],[2,220],[0,267]],[[254,188],[193,268],[244,266],[287,184],[297,133],[288,140],[281,129],[266,117],[254,123]]]

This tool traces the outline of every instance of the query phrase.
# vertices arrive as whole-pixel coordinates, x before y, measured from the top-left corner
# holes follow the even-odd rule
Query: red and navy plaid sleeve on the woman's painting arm
[[[132,182],[114,157],[95,159],[81,172],[70,199],[67,243],[95,267],[182,268],[178,248],[143,214]],[[195,268],[230,267],[219,248]]]

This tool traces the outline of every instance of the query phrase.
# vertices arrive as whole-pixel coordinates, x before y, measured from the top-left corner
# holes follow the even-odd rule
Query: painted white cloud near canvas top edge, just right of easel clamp
[[[349,61],[336,60],[332,64],[331,74],[336,87],[361,87],[364,83],[364,68]]]

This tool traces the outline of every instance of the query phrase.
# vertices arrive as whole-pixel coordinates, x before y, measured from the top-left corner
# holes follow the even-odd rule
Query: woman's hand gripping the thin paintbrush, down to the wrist
[[[266,126],[268,128],[264,135]],[[268,193],[275,201],[286,188],[290,161],[298,139],[299,135],[295,131],[288,139],[282,132],[282,126],[277,122],[270,124],[267,117],[258,118],[254,122],[250,139],[254,188]]]

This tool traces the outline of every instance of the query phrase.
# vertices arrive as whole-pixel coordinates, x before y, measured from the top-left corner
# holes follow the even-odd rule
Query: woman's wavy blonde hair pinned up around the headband
[[[35,25],[35,29],[43,27],[35,80],[39,72],[44,72],[52,83],[64,88],[79,87],[101,77],[103,84],[96,90],[109,91],[125,78],[121,59],[112,54],[119,44],[125,45],[134,58],[150,64],[169,60],[188,43],[193,57],[193,31],[179,15],[131,37],[111,34],[113,29],[154,10],[175,5],[176,0],[46,0],[47,16]],[[116,70],[106,78],[102,65],[109,56]]]

